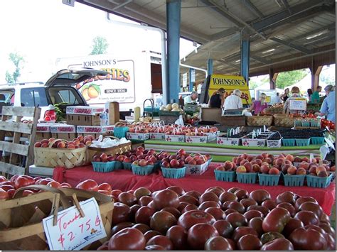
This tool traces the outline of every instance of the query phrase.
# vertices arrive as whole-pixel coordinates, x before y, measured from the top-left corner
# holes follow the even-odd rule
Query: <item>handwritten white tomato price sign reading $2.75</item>
[[[81,217],[74,206],[58,212],[55,226],[53,215],[43,219],[43,229],[50,250],[80,250],[107,236],[96,199],[80,202],[80,206],[85,217]]]

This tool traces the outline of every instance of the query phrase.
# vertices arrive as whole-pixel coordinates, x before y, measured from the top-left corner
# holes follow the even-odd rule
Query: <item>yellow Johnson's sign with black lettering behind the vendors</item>
[[[212,96],[220,87],[225,89],[225,97],[230,96],[235,89],[240,89],[242,92],[242,104],[251,104],[250,90],[248,89],[247,82],[242,76],[235,75],[211,75],[210,84],[208,88],[209,97]]]

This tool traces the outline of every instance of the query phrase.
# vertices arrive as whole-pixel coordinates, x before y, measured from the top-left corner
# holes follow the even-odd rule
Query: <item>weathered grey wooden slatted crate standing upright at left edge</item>
[[[8,163],[3,159],[0,161],[0,172],[6,177],[9,175],[28,174],[29,165],[33,164],[36,124],[40,118],[41,108],[38,107],[13,107],[3,106],[0,121],[0,151],[1,154],[10,153]],[[23,124],[21,119],[32,117],[33,124]],[[15,121],[7,121],[9,118],[15,118]],[[13,140],[5,141],[6,132],[13,132]],[[20,141],[20,136],[26,134],[27,143]]]

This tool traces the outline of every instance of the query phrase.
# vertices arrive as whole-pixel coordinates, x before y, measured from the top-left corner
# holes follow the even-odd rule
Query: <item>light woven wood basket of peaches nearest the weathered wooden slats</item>
[[[61,166],[70,169],[85,164],[87,146],[77,149],[52,148],[56,141],[67,142],[55,139],[49,143],[48,148],[34,147],[34,165],[50,168]]]

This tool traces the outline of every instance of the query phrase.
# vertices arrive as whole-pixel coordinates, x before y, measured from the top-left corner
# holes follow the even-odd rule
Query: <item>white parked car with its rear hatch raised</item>
[[[62,104],[58,107],[64,112],[67,106],[89,106],[75,85],[97,75],[105,76],[107,72],[91,68],[65,69],[58,71],[46,83],[0,85],[0,111],[2,106],[38,106],[41,107],[40,121],[50,121],[49,105]]]

